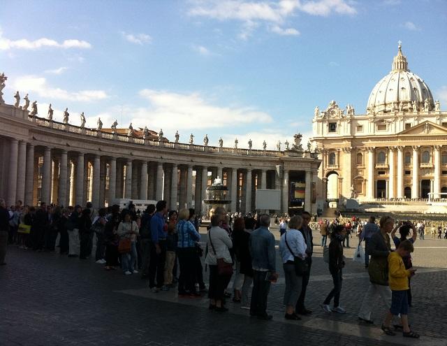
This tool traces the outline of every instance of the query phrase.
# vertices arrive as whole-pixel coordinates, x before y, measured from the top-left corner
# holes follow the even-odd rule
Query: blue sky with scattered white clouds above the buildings
[[[3,99],[54,120],[274,149],[331,100],[364,114],[397,41],[447,107],[447,1],[1,1]],[[23,101],[21,101],[23,103]]]

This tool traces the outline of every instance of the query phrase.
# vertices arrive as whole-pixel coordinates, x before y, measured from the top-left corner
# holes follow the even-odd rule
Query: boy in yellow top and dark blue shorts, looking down
[[[389,282],[390,289],[393,292],[391,296],[391,307],[387,312],[382,324],[382,330],[388,336],[395,336],[391,330],[391,319],[393,316],[400,315],[402,319],[403,336],[406,338],[419,338],[419,334],[411,331],[408,322],[408,298],[406,296],[409,289],[409,278],[414,275],[416,269],[406,269],[403,257],[409,257],[413,252],[413,244],[410,240],[404,240],[399,244],[395,252],[388,255]]]

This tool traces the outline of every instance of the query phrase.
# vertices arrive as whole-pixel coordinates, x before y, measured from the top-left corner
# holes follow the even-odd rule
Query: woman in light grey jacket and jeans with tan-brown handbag
[[[119,240],[126,239],[131,242],[130,251],[121,254],[122,271],[125,275],[137,274],[138,271],[135,268],[137,264],[137,248],[135,242],[138,235],[138,225],[133,221],[131,212],[128,209],[122,210],[121,219],[122,221],[117,229]]]

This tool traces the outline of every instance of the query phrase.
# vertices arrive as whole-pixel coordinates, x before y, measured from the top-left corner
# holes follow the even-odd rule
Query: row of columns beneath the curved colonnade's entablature
[[[171,209],[192,208],[199,212],[206,199],[207,186],[214,178],[223,179],[231,199],[230,210],[251,212],[255,209],[256,189],[281,189],[278,212],[288,212],[290,197],[289,170],[280,174],[277,167],[237,168],[226,164],[204,166],[178,164],[155,159],[115,157],[101,152],[52,148],[15,138],[0,138],[3,161],[0,196],[12,205],[17,200],[28,205],[54,203],[60,206],[95,208],[119,199],[165,199]],[[314,174],[305,173],[305,208],[312,210]],[[7,181],[7,183],[5,182]]]

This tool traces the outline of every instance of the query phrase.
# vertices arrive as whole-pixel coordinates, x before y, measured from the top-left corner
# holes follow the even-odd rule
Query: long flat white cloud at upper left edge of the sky
[[[11,49],[24,49],[24,50],[37,50],[40,48],[80,48],[87,49],[91,48],[91,44],[87,41],[82,40],[65,40],[61,43],[54,41],[50,38],[38,38],[35,41],[29,41],[27,38],[22,38],[20,40],[10,40],[9,38],[3,37],[3,31],[0,29],[0,50],[11,50]]]

